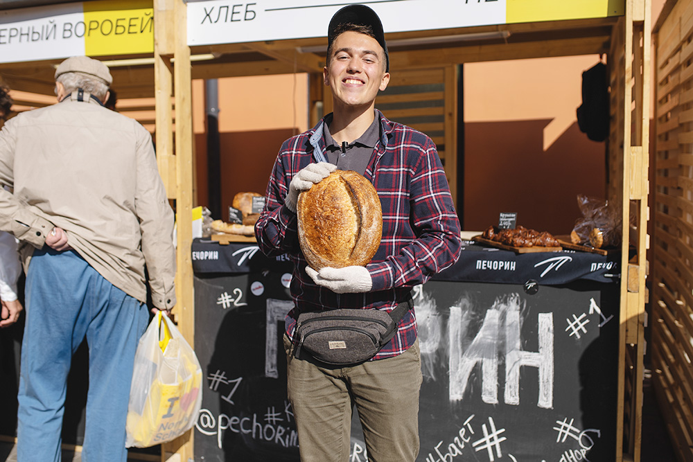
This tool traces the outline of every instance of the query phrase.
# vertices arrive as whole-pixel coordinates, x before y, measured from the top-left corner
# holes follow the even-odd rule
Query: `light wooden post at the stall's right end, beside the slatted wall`
[[[640,461],[642,380],[644,376],[644,304],[647,271],[647,195],[649,170],[650,5],[626,0],[622,63],[623,131],[622,257],[619,346],[619,429],[617,460]],[[631,216],[635,217],[631,223]],[[631,260],[629,251],[635,247]],[[626,418],[627,416],[627,418]],[[628,427],[624,425],[628,423]]]

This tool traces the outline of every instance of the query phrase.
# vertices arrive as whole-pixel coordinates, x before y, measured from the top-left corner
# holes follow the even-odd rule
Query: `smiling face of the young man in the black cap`
[[[378,91],[389,82],[383,47],[373,37],[349,30],[335,39],[332,53],[324,79],[332,89],[335,106],[373,106]]]

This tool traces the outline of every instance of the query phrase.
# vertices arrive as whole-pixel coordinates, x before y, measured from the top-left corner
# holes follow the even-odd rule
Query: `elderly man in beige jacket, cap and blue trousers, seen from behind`
[[[125,461],[125,419],[148,284],[175,305],[173,211],[150,134],[103,107],[112,78],[89,57],[55,71],[59,103],[0,131],[0,230],[20,241],[26,271],[17,455],[60,460],[71,356],[87,339],[89,393],[82,457]],[[146,267],[146,270],[145,270]]]

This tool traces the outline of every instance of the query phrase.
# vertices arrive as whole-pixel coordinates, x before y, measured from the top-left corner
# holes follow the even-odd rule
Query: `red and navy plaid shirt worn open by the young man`
[[[459,220],[448,181],[433,141],[410,127],[388,121],[380,111],[380,143],[364,176],[378,191],[383,207],[383,238],[367,269],[371,292],[335,294],[306,274],[299,247],[296,214],[284,205],[294,175],[311,162],[324,161],[323,121],[283,143],[267,185],[265,209],[255,225],[258,245],[267,256],[288,254],[295,264],[291,296],[295,308],[286,317],[293,338],[300,312],[365,308],[391,311],[412,287],[453,265],[459,257]],[[374,359],[404,353],[416,340],[410,310],[397,334]]]

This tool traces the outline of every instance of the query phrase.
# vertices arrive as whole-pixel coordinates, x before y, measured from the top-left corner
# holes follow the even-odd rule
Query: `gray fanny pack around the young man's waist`
[[[387,313],[343,308],[299,314],[295,356],[310,355],[337,366],[360,364],[374,357],[397,332],[397,323],[414,308],[411,294]]]

